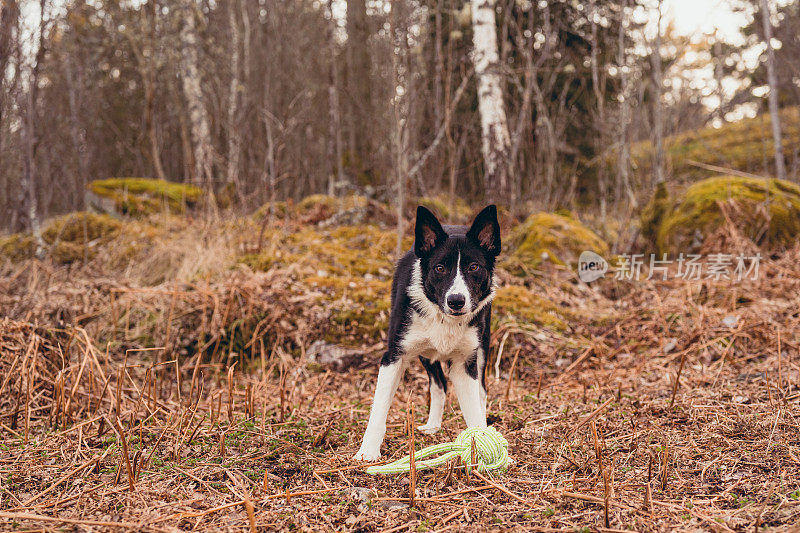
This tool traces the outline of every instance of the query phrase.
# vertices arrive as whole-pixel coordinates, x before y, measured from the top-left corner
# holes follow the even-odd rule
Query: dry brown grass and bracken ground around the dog
[[[303,231],[297,242],[313,237]],[[261,270],[247,266],[259,256],[240,242],[216,248],[189,236],[206,252],[184,245],[185,255],[216,274],[186,274],[177,253],[152,283],[141,278],[152,263],[112,272],[100,258],[2,271],[0,529],[740,531],[800,522],[800,250],[762,260],[759,279],[741,283],[587,287],[567,269],[522,281],[501,272],[518,298],[495,320],[488,414],[514,462],[492,476],[450,465],[411,479],[369,475],[351,459],[374,391],[390,268],[373,265],[355,283],[320,266],[325,258],[304,266],[292,238],[273,237],[262,235],[270,257],[289,260]],[[250,255],[220,268],[229,249]],[[361,307],[372,313],[352,314]],[[346,317],[335,314],[342,309]],[[321,339],[353,350],[341,366],[312,361]],[[409,432],[409,420],[425,419],[426,390],[412,367],[389,415],[386,459],[407,454],[410,439],[419,448],[463,429],[449,394],[440,433]]]

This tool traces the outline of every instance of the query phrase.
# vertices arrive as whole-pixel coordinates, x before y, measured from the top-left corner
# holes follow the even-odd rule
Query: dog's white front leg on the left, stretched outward
[[[386,417],[392,405],[394,393],[406,369],[405,360],[400,357],[388,365],[381,364],[378,370],[378,383],[375,385],[375,398],[369,412],[367,430],[361,448],[353,459],[356,461],[375,461],[381,457],[381,444],[386,434]]]

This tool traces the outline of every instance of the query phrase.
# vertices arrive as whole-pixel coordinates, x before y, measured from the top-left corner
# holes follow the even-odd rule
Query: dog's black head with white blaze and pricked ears
[[[494,263],[500,253],[500,224],[493,205],[472,226],[442,227],[420,206],[414,228],[414,253],[425,297],[446,315],[474,313],[493,295]]]

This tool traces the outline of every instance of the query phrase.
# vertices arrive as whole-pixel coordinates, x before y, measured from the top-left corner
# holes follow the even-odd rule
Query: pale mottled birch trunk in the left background
[[[189,110],[189,123],[194,155],[193,181],[210,189],[213,180],[213,153],[208,112],[203,105],[203,91],[200,84],[200,59],[198,54],[196,6],[194,0],[181,0],[181,62],[183,67],[183,95]]]

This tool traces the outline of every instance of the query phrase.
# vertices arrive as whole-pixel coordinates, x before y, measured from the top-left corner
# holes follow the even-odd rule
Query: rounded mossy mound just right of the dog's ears
[[[538,269],[543,261],[574,268],[585,250],[608,253],[608,244],[568,212],[535,213],[505,242],[508,255],[502,266],[518,275]]]

